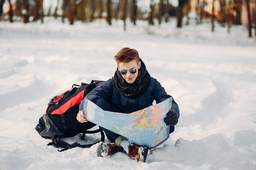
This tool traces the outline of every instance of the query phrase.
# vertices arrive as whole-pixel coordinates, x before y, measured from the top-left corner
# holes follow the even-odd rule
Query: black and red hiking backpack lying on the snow
[[[80,123],[76,116],[79,112],[79,104],[82,99],[94,89],[100,86],[104,81],[92,80],[90,84],[81,83],[81,86],[73,84],[71,90],[50,99],[46,113],[39,119],[36,130],[39,135],[45,139],[52,139],[49,145],[56,148],[64,148],[58,151],[81,147],[88,148],[94,144],[104,141],[105,136],[101,128],[89,131],[90,128],[96,126],[92,122]],[[75,86],[75,87],[74,87]],[[85,134],[101,133],[101,140],[94,144],[81,145],[75,142],[68,144],[61,140],[61,137],[74,137],[79,133],[83,133],[81,139],[85,140]]]

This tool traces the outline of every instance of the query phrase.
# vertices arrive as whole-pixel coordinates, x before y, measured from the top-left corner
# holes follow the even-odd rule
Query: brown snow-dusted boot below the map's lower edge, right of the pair
[[[145,162],[148,155],[148,147],[130,144],[128,147],[128,155],[130,159]]]

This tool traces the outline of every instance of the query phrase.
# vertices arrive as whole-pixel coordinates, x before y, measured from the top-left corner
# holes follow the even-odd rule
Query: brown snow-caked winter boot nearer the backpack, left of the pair
[[[124,152],[124,149],[120,146],[117,146],[117,144],[106,144],[101,143],[101,157],[106,157],[108,155],[114,155],[117,152]]]

